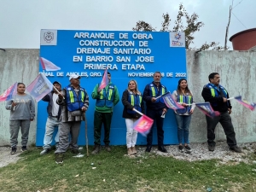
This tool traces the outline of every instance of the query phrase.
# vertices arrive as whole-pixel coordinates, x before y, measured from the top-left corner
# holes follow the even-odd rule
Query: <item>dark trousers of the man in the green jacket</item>
[[[110,135],[110,125],[112,119],[112,112],[111,113],[101,113],[95,111],[94,113],[94,143],[101,145],[101,132],[102,132],[102,124],[104,125],[104,143],[108,145],[109,135]]]

